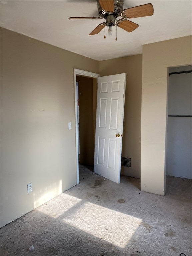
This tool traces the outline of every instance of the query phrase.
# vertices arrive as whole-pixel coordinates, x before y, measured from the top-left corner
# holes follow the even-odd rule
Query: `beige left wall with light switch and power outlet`
[[[98,73],[98,61],[0,31],[4,226],[77,183],[73,69]]]

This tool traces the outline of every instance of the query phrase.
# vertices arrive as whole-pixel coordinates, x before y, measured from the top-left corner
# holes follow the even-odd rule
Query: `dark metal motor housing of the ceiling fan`
[[[107,19],[109,14],[111,14],[114,16],[114,18],[117,18],[121,15],[121,11],[123,10],[123,1],[122,0],[114,1],[114,12],[107,12],[107,11],[103,10],[99,1],[97,1],[97,8],[98,8],[98,14],[100,17]],[[107,24],[106,24],[106,26],[107,26]],[[111,25],[109,25],[109,26],[111,26]],[[112,25],[112,26],[114,26],[114,25]]]

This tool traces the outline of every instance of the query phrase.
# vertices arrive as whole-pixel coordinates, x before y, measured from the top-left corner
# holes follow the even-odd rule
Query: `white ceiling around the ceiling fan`
[[[191,35],[192,1],[124,1],[123,9],[152,3],[153,16],[134,18],[139,27],[131,33],[115,27],[111,38],[104,29],[88,34],[103,19],[69,20],[68,17],[98,16],[97,1],[1,1],[1,27],[16,31],[65,50],[106,60],[142,53],[142,45]]]

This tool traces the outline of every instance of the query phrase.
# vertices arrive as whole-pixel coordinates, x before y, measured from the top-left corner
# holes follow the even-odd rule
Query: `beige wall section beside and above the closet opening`
[[[191,37],[143,46],[141,190],[165,194],[168,67],[191,64]]]

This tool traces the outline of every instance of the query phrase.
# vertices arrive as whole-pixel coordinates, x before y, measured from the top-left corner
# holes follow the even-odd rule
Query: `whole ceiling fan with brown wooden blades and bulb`
[[[117,26],[132,32],[139,27],[138,24],[128,20],[131,18],[139,18],[153,15],[153,5],[143,4],[136,7],[123,10],[122,0],[98,0],[97,1],[98,15],[99,17],[70,17],[69,19],[105,19],[105,22],[100,23],[96,28],[89,33],[89,35],[98,34],[105,26],[109,27],[108,34],[111,36],[112,27],[116,25],[116,39],[117,40]],[[121,19],[117,20],[117,17]],[[104,36],[104,38],[106,38]]]

